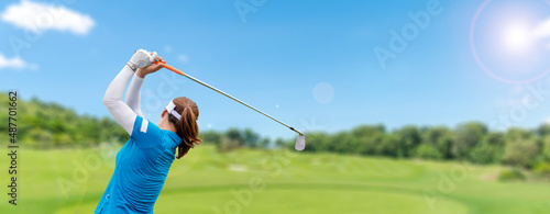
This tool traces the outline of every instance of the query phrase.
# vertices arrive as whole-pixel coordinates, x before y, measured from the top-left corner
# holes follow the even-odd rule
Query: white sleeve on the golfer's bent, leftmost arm
[[[107,106],[107,110],[109,110],[114,120],[130,135],[132,135],[136,114],[130,106],[122,102],[122,95],[124,94],[124,89],[130,78],[132,78],[132,75],[134,75],[132,69],[124,66],[119,75],[112,80],[111,85],[109,85],[103,97],[103,104]]]

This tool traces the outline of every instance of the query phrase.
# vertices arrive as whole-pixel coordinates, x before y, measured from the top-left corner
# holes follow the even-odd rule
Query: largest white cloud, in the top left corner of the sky
[[[1,14],[4,22],[24,30],[42,32],[45,30],[68,31],[86,35],[95,25],[94,20],[86,14],[73,11],[64,5],[32,2],[22,0],[9,5]]]

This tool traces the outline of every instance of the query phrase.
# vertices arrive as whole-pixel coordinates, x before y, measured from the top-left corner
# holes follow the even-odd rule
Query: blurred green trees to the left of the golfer
[[[128,140],[128,134],[110,117],[78,115],[74,110],[36,98],[18,100],[16,139],[34,148],[94,146],[108,140]],[[0,129],[8,128],[8,93],[0,93]],[[4,134],[6,133],[6,134]],[[8,143],[7,132],[0,144]]]

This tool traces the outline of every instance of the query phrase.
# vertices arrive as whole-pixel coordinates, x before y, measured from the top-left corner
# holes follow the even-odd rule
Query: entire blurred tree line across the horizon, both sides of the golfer
[[[0,93],[0,129],[8,128],[8,94]],[[8,134],[0,135],[7,144]],[[220,151],[241,147],[294,147],[295,138],[272,140],[250,128],[200,132],[205,144]],[[36,98],[18,102],[18,139],[35,148],[95,146],[103,142],[128,140],[128,134],[111,117],[78,115],[61,104]],[[526,129],[513,127],[491,131],[480,122],[454,128],[408,125],[388,131],[384,125],[361,125],[333,134],[311,132],[306,135],[304,153],[336,153],[392,158],[464,160],[473,164],[502,164],[550,173],[550,125]]]

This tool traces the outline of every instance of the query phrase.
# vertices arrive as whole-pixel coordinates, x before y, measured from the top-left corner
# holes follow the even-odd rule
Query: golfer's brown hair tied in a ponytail
[[[168,114],[168,120],[176,126],[176,134],[182,138],[182,143],[177,147],[177,156],[179,159],[184,157],[190,148],[195,145],[199,145],[202,139],[198,138],[199,126],[197,125],[197,119],[199,117],[199,108],[195,102],[185,97],[179,97],[173,100],[176,105],[176,112],[182,115],[182,120],[177,120],[176,116]]]

